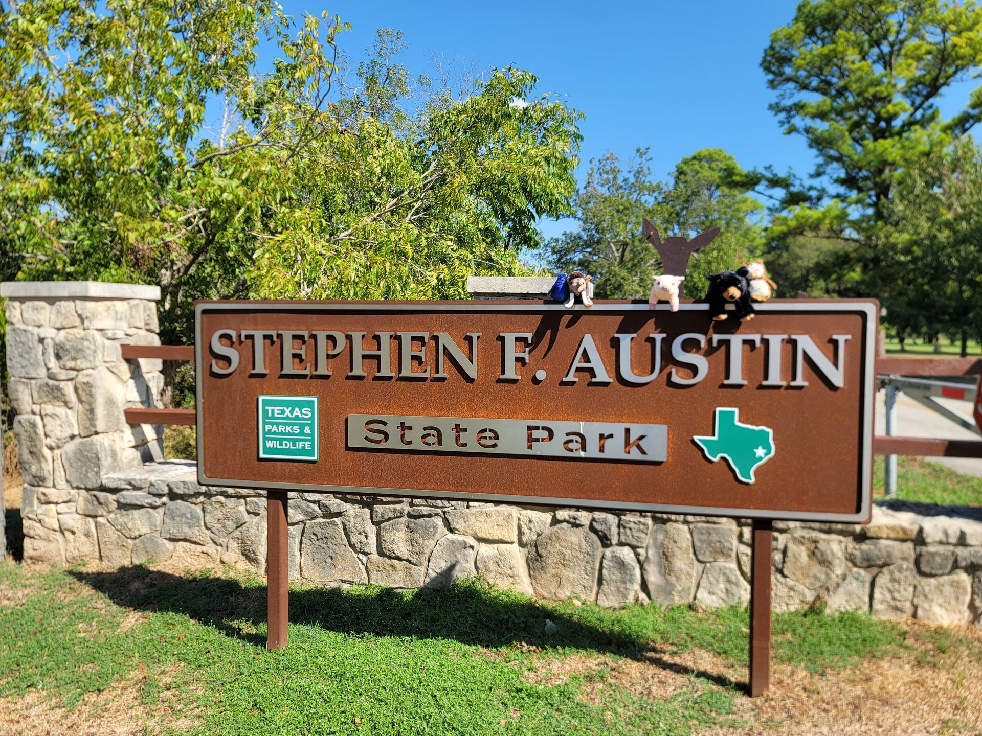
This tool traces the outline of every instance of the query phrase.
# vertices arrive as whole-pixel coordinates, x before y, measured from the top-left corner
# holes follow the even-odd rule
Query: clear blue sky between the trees
[[[281,0],[282,2],[282,0]],[[630,156],[650,146],[656,176],[682,156],[724,148],[744,168],[772,164],[805,175],[814,159],[799,136],[784,135],[767,106],[760,58],[772,30],[791,22],[790,0],[689,2],[283,2],[284,10],[327,9],[353,27],[339,36],[355,65],[379,27],[404,31],[410,72],[431,70],[431,55],[481,68],[516,65],[540,79],[538,91],[568,96],[582,111],[580,175],[591,157]],[[260,61],[275,48],[263,50]],[[943,105],[957,109],[969,84]],[[568,223],[541,223],[547,236]]]

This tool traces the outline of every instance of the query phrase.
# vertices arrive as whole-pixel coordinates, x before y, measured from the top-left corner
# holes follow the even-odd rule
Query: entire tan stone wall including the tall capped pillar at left
[[[263,494],[201,488],[194,463],[157,462],[160,427],[126,422],[128,406],[159,403],[160,361],[120,352],[159,342],[159,289],[8,283],[0,295],[26,561],[263,570]],[[728,605],[750,590],[745,520],[294,494],[288,521],[291,577],[317,584],[436,587],[478,574],[602,605]],[[892,503],[868,526],[775,532],[776,610],[822,599],[882,618],[982,622],[980,509]]]

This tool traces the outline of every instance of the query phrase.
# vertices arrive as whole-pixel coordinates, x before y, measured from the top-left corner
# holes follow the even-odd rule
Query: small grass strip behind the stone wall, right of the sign
[[[884,458],[873,458],[873,496],[883,499]],[[923,457],[897,458],[897,499],[943,505],[982,505],[982,478],[963,475]]]

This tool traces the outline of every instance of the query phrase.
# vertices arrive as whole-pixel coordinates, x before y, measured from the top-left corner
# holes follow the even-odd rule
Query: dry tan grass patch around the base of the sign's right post
[[[935,627],[916,621],[905,626],[912,650],[901,657],[871,658],[814,674],[775,665],[765,697],[736,697],[732,716],[743,725],[716,727],[701,736],[982,734],[982,630],[946,629],[955,639],[969,640],[969,646],[955,644],[941,652],[931,643]],[[655,647],[639,659],[578,653],[541,657],[521,678],[554,687],[577,676],[586,680],[580,699],[597,706],[613,688],[663,701],[682,692],[742,687],[746,667],[702,650],[672,654],[667,647]]]

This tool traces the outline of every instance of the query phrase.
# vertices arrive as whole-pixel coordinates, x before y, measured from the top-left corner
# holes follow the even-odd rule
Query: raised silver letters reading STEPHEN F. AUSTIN
[[[821,374],[832,386],[841,389],[845,375],[845,346],[849,335],[833,335],[833,355],[817,345],[808,335],[713,335],[709,341],[713,347],[725,345],[727,349],[727,373],[724,385],[745,386],[743,378],[744,347],[766,349],[761,359],[766,361],[763,371],[763,387],[808,386],[804,379],[805,358],[815,371]],[[676,367],[669,371],[670,383],[685,387],[701,382],[709,372],[706,356],[694,352],[706,346],[707,336],[700,333],[682,333],[666,343],[666,336],[652,333],[616,334],[612,346],[598,345],[593,336],[586,334],[579,341],[570,356],[569,370],[559,380],[559,385],[576,384],[584,378],[589,384],[610,384],[614,381],[609,365],[615,365],[617,377],[628,384],[643,385],[654,381],[662,372],[663,351],[671,354],[676,366],[690,369],[690,376],[683,376]],[[364,378],[365,364],[373,363],[377,370],[376,379],[410,379],[413,381],[443,381],[454,370],[470,381],[476,381],[477,361],[490,352],[502,366],[500,381],[517,382],[526,377],[520,372],[521,366],[528,363],[531,333],[501,333],[493,340],[481,333],[467,333],[461,343],[447,333],[424,332],[337,332],[332,330],[218,330],[209,346],[214,356],[211,360],[211,373],[226,376],[241,369],[240,349],[247,345],[251,361],[247,363],[248,375],[261,377],[270,370],[277,371],[281,377],[317,376],[329,377],[340,374],[351,378]],[[791,381],[785,379],[785,366],[782,365],[782,346],[785,342],[793,344]],[[646,343],[646,344],[644,344]],[[639,346],[644,344],[644,346]],[[279,365],[269,365],[266,360],[266,346],[278,345],[281,355]],[[342,356],[349,346],[349,355]],[[637,375],[631,369],[631,353],[634,350],[648,350],[651,354],[650,373]],[[607,353],[606,355],[604,353]],[[754,351],[759,354],[759,351]],[[398,357],[398,369],[393,371],[393,357]],[[536,383],[547,380],[544,370],[538,370],[527,378]]]

